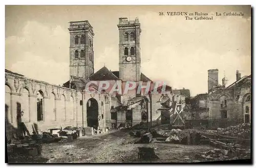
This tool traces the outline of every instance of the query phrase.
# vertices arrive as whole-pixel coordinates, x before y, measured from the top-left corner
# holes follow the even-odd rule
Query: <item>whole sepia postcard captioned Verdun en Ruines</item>
[[[6,6],[8,163],[250,163],[251,6]]]

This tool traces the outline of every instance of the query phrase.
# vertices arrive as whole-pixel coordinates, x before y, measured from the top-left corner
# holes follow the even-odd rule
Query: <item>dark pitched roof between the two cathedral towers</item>
[[[89,77],[89,79],[90,80],[117,80],[118,77],[104,66],[100,70],[92,74]]]

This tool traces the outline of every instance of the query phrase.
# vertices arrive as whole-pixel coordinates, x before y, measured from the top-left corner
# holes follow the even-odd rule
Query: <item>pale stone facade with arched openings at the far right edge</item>
[[[243,76],[237,71],[236,81],[226,86],[224,77],[223,85],[210,89],[209,121],[219,120],[229,125],[250,123],[251,121],[251,75]]]

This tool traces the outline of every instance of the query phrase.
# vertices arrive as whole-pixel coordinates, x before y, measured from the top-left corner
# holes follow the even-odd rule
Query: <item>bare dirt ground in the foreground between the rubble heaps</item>
[[[197,157],[213,149],[209,145],[181,145],[154,143],[129,144],[135,137],[129,130],[114,130],[110,133],[82,137],[71,143],[51,143],[42,146],[41,156],[10,158],[9,162],[43,163],[120,163],[120,162],[201,162]],[[138,147],[155,149],[157,160],[138,159]],[[198,154],[198,155],[197,155]]]

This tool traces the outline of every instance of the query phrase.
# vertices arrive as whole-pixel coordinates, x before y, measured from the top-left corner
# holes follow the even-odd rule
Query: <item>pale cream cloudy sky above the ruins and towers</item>
[[[159,16],[163,11],[243,12],[214,20]],[[228,85],[251,73],[249,6],[7,6],[6,68],[27,77],[60,84],[69,80],[68,22],[89,20],[94,29],[95,72],[118,71],[118,18],[139,18],[141,70],[190,94],[207,92],[207,70],[219,69]]]

